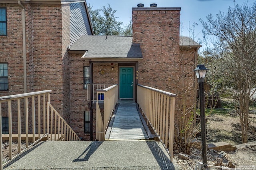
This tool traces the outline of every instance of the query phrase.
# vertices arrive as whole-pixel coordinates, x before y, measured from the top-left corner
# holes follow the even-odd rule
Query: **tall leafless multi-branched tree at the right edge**
[[[215,35],[214,49],[219,52],[220,69],[226,84],[237,97],[237,112],[240,115],[242,143],[248,138],[248,115],[250,97],[256,85],[256,2],[229,7],[216,19],[210,14],[207,21],[200,19],[204,33]]]

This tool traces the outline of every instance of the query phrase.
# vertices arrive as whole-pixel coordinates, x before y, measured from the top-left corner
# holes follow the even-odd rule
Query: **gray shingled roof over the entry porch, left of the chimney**
[[[131,36],[82,36],[69,50],[87,51],[85,58],[142,59],[140,44],[133,44]]]

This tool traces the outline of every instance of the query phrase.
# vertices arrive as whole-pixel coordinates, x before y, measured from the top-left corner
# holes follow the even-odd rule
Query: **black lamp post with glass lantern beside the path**
[[[202,141],[202,156],[204,167],[207,165],[207,147],[206,147],[206,129],[205,129],[205,112],[204,112],[204,78],[209,70],[204,64],[197,65],[193,71],[196,73],[199,83],[199,99],[200,99],[200,122],[201,122],[201,141]]]

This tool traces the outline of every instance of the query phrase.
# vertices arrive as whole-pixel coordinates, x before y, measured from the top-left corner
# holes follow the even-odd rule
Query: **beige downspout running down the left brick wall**
[[[27,92],[27,65],[26,65],[26,27],[25,27],[25,8],[18,0],[18,4],[22,8],[22,40],[23,40],[23,76],[24,76],[24,93]]]

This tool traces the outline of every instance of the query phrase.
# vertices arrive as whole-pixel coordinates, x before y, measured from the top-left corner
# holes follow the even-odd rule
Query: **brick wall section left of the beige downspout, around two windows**
[[[7,35],[0,36],[0,62],[8,63],[9,91],[0,96],[19,94],[23,87],[22,10],[18,4],[2,4],[7,11]]]

